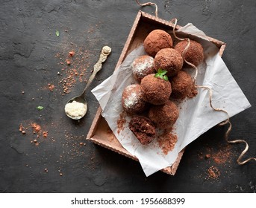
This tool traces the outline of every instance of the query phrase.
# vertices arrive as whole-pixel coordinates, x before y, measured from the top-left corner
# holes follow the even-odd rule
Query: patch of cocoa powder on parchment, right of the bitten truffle
[[[166,129],[163,131],[163,134],[157,137],[157,143],[162,149],[164,155],[167,155],[168,152],[172,151],[175,147],[178,137],[172,132],[172,129]]]

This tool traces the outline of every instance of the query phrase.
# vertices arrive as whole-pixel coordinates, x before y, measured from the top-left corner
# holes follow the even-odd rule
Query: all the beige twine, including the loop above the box
[[[139,4],[140,6],[144,7],[144,6],[149,6],[149,5],[154,5],[155,6],[155,16],[157,17],[157,4],[155,3],[152,3],[152,2],[146,2],[144,4],[140,4],[140,2],[138,0],[136,0],[137,4]],[[191,62],[188,62],[187,59],[185,59],[185,54],[187,53],[187,50],[188,48],[190,48],[190,39],[189,38],[179,38],[178,36],[176,36],[176,33],[175,33],[175,28],[177,26],[177,22],[178,20],[175,18],[175,19],[172,19],[170,21],[174,26],[172,27],[172,33],[173,33],[173,36],[175,36],[176,39],[180,40],[180,41],[184,41],[184,40],[187,40],[187,46],[186,48],[184,49],[184,51],[181,53],[181,56],[183,57],[184,59],[184,62],[186,62],[188,65],[190,65],[192,68],[195,69],[195,75],[193,77],[193,82],[195,83],[196,82],[196,77],[197,77],[197,74],[198,74],[198,68],[196,67],[196,65],[193,65]],[[231,121],[230,121],[230,116],[228,114],[228,111],[225,111],[224,109],[222,108],[215,108],[212,104],[212,97],[213,97],[213,91],[210,87],[208,86],[200,86],[200,85],[195,85],[196,88],[202,88],[202,89],[205,89],[209,92],[209,104],[210,104],[210,108],[213,109],[213,111],[219,111],[219,112],[223,112],[225,114],[227,114],[227,119],[224,120],[222,123],[219,123],[219,126],[224,126],[225,124],[228,123],[228,130],[225,132],[225,140],[228,142],[228,143],[245,143],[246,144],[246,148],[243,150],[243,152],[241,152],[240,156],[237,158],[237,163],[239,165],[243,165],[247,162],[249,162],[249,160],[255,160],[256,161],[256,158],[255,157],[249,157],[248,159],[246,160],[242,160],[242,157],[246,154],[246,152],[248,151],[249,149],[249,145],[248,143],[246,142],[246,140],[240,140],[240,139],[237,139],[237,140],[228,140],[228,135],[230,134],[231,132],[231,129],[232,129],[232,124],[231,124]]]

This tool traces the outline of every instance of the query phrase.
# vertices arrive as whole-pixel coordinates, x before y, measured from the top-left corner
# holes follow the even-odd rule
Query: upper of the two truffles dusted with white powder
[[[140,82],[146,75],[154,74],[154,58],[152,56],[143,55],[134,59],[131,65],[134,79]]]

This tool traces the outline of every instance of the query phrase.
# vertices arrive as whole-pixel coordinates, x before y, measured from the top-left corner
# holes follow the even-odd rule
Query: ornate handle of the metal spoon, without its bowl
[[[111,48],[108,46],[104,46],[102,48],[102,52],[99,55],[99,60],[98,62],[96,62],[96,64],[93,67],[93,74],[90,76],[90,78],[88,79],[87,85],[84,88],[84,91],[82,93],[82,95],[85,94],[87,88],[90,86],[90,84],[93,82],[94,77],[96,76],[96,74],[98,73],[98,71],[100,71],[102,69],[102,63],[107,59],[107,56],[110,54],[111,52]]]

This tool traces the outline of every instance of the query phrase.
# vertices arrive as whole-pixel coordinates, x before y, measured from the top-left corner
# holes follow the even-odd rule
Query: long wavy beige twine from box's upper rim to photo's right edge
[[[175,28],[176,28],[176,26],[177,26],[177,19],[172,19],[171,22],[173,22],[173,21],[175,21],[175,23],[174,23],[174,27],[173,27],[173,30],[172,30],[172,31],[173,31],[173,35],[175,36],[175,38],[176,38],[176,39],[179,39],[179,40],[181,40],[181,41],[187,40],[187,47],[186,47],[186,48],[184,49],[184,51],[182,52],[182,56],[183,56],[183,58],[184,58],[184,54],[187,52],[187,49],[190,47],[190,39],[189,39],[189,38],[181,39],[181,38],[178,38],[178,36],[176,36],[176,34],[175,34]],[[184,58],[184,61],[185,61],[188,65],[192,66],[192,67],[196,70],[196,75],[195,75],[195,77],[193,78],[193,79],[194,79],[194,82],[195,82],[195,81],[196,81],[197,74],[198,74],[198,68],[197,68],[195,65],[193,65],[192,63],[188,62],[185,58]],[[231,129],[232,129],[232,124],[231,124],[231,122],[230,122],[230,117],[229,117],[228,111],[225,111],[225,110],[223,110],[223,109],[221,109],[221,108],[215,108],[215,107],[213,107],[213,104],[212,104],[213,91],[212,91],[209,87],[196,85],[196,88],[203,88],[203,89],[206,89],[207,91],[209,91],[209,103],[210,103],[210,108],[213,108],[214,111],[220,111],[220,112],[224,112],[225,114],[227,114],[228,119],[225,120],[225,121],[223,121],[222,123],[219,123],[219,126],[224,126],[224,125],[227,124],[227,123],[229,124],[228,130],[225,132],[225,140],[226,140],[228,143],[245,143],[245,144],[246,144],[246,148],[243,150],[243,152],[241,152],[240,156],[237,158],[237,163],[238,163],[239,165],[243,165],[243,164],[249,162],[249,160],[255,160],[255,161],[256,161],[256,158],[255,158],[255,157],[249,157],[248,159],[246,159],[246,160],[244,160],[244,161],[241,161],[243,155],[245,155],[246,152],[247,152],[248,149],[249,149],[248,143],[246,142],[246,140],[228,140],[228,135],[229,135],[229,133],[231,132]]]

